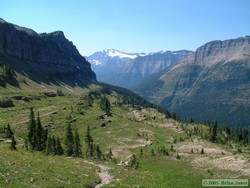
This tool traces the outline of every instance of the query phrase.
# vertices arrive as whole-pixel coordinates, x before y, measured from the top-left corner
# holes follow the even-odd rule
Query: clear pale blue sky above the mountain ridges
[[[250,0],[0,0],[0,17],[38,33],[62,30],[84,56],[195,50],[250,35]]]

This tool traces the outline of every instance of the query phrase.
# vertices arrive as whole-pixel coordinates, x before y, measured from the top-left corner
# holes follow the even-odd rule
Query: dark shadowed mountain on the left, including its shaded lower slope
[[[96,82],[90,63],[61,31],[37,34],[1,19],[0,60],[2,66],[8,65],[38,82]]]

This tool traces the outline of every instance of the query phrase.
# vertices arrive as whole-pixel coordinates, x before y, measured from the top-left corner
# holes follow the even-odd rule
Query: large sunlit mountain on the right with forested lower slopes
[[[143,96],[184,117],[249,124],[250,37],[212,41],[155,78]],[[157,84],[156,84],[157,83]]]

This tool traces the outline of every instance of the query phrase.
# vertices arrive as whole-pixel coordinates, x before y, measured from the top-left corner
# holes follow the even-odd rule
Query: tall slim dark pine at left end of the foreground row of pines
[[[30,108],[30,121],[28,127],[28,142],[33,150],[36,145],[36,121],[33,108]]]

